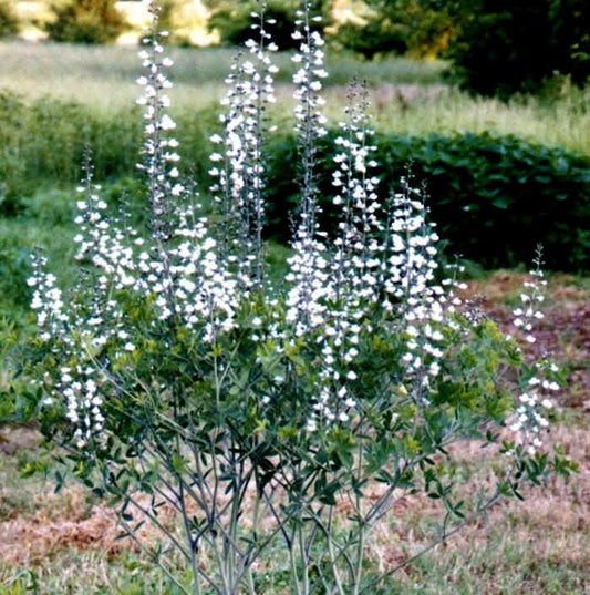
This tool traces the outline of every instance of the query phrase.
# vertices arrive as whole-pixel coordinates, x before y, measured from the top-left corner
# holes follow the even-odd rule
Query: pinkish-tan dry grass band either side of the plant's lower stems
[[[29,434],[29,438],[24,438]],[[6,434],[6,444],[34,444],[34,431],[19,429]],[[444,547],[468,555],[472,548],[482,547],[489,540],[489,530],[505,531],[510,541],[535,543],[540,557],[559,556],[563,563],[581,564],[590,546],[588,519],[590,517],[590,443],[584,428],[558,425],[551,442],[562,444],[566,452],[580,463],[580,474],[572,481],[552,480],[542,489],[527,489],[526,503],[505,502],[491,510],[487,527],[479,521],[454,537]],[[14,452],[14,451],[13,451]],[[464,443],[454,449],[457,464],[479,460],[479,449]],[[487,473],[486,469],[483,473]],[[51,493],[51,486],[38,495],[37,512],[32,516],[18,511],[0,523],[0,567],[45,565],[64,551],[96,551],[115,556],[123,550],[136,552],[132,541],[117,541],[121,533],[112,511],[103,504],[89,507],[84,490],[79,485]],[[366,492],[368,503],[374,502],[384,488],[372,486]],[[468,494],[466,494],[468,495]],[[246,514],[253,496],[247,499]],[[348,501],[341,501],[338,511],[342,516],[351,512]],[[434,519],[439,506],[424,494],[412,495],[396,502],[391,514],[376,524],[369,542],[369,557],[381,570],[401,564],[426,545],[427,535],[411,519]],[[170,510],[163,510],[166,524],[174,524]],[[265,521],[267,529],[275,526],[272,519]],[[158,538],[154,529],[144,532],[147,542]]]

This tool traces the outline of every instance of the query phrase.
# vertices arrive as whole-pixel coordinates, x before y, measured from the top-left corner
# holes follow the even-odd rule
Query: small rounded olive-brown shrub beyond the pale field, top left
[[[49,39],[71,43],[111,43],[126,22],[116,0],[75,0],[53,6],[55,20],[45,25]]]

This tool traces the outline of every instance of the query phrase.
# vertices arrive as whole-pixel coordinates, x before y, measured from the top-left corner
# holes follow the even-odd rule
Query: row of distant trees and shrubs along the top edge
[[[54,20],[44,24],[50,39],[108,43],[131,27],[116,10],[116,0],[53,0]],[[255,0],[205,0],[209,31],[221,43],[238,45],[251,35]],[[584,0],[363,0],[346,4],[318,0],[323,22],[318,27],[338,51],[364,59],[386,54],[413,59],[443,58],[453,62],[453,81],[473,93],[499,96],[538,93],[562,78],[582,86],[590,74],[589,8]],[[269,32],[281,50],[294,48],[291,25],[299,2],[269,0]],[[3,8],[2,8],[3,7]],[[192,43],[175,34],[183,0],[163,2],[162,23],[173,42]],[[340,14],[340,16],[339,16]],[[352,17],[351,17],[352,16]],[[15,32],[9,3],[0,2],[0,35]]]

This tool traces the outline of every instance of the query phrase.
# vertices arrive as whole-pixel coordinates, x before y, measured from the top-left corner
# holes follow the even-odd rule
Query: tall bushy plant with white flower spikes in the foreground
[[[89,160],[77,284],[64,295],[42,256],[30,279],[43,429],[180,593],[262,593],[256,570],[277,550],[290,593],[373,593],[398,568],[368,564],[369,535],[410,495],[439,503],[435,544],[519,496],[522,483],[569,470],[542,451],[558,369],[526,363],[515,339],[460,299],[454,271],[441,278],[438,236],[410,177],[380,203],[385,181],[372,173],[368,93],[356,82],[334,158],[340,224],[334,237],[320,229],[327,72],[310,4],[293,33],[301,201],[280,283],[263,244],[277,72],[263,2],[213,137],[216,223],[180,181],[172,61],[153,3],[137,80],[148,223],[107,216]],[[532,278],[515,311],[528,341],[542,316],[540,270]],[[479,484],[455,473],[462,442],[501,461],[484,465]],[[144,524],[162,533],[159,545],[144,540]]]

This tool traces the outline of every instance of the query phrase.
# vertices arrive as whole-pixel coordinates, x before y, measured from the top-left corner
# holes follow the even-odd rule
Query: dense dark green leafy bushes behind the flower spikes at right
[[[325,141],[333,143],[333,135]],[[462,254],[487,267],[516,266],[542,242],[548,266],[588,270],[590,266],[590,160],[559,147],[527,143],[516,136],[376,135],[377,175],[398,179],[407,167],[426,185],[433,219],[448,254]],[[291,137],[275,141],[268,185],[270,229],[289,235],[289,209],[298,193]],[[334,147],[319,173],[323,222],[335,220],[330,197]],[[382,185],[380,192],[391,188]],[[332,225],[333,227],[333,225]]]

